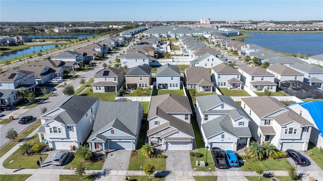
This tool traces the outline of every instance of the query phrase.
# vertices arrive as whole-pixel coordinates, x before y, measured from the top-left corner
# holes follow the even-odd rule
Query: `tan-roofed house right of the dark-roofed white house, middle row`
[[[187,89],[196,89],[198,92],[212,92],[210,72],[204,67],[186,68],[184,81]]]

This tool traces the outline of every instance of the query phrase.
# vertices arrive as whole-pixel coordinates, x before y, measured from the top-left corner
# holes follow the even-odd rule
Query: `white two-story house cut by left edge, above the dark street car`
[[[36,86],[35,73],[25,70],[11,69],[0,74],[0,96],[2,104],[20,101],[19,90],[26,88],[34,91]]]

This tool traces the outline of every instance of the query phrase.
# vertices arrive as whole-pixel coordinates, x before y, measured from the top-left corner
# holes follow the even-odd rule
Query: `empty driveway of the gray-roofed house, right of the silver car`
[[[131,150],[110,150],[102,170],[128,170]]]

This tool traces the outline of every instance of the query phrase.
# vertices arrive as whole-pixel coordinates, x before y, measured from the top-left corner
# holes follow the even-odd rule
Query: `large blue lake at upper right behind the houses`
[[[294,54],[323,54],[323,33],[246,33],[245,43]]]

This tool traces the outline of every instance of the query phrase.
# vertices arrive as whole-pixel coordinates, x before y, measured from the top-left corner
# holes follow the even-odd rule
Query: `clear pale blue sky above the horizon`
[[[323,20],[323,1],[0,1],[0,22]]]

